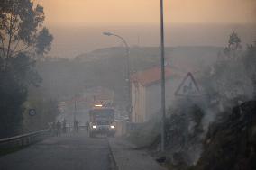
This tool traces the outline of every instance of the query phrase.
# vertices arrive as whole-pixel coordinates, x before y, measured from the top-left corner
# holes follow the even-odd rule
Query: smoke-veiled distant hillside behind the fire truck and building
[[[167,62],[183,71],[195,71],[215,62],[218,47],[168,47]],[[122,47],[96,49],[74,59],[46,58],[37,67],[43,79],[38,92],[50,98],[70,98],[84,89],[105,86],[114,90],[116,101],[123,101],[127,90],[125,50]],[[130,51],[131,72],[159,66],[158,47],[133,47]]]

